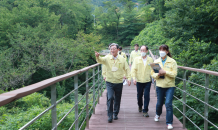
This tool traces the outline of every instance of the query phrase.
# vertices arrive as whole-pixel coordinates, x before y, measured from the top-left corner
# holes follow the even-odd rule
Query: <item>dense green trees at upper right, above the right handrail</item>
[[[218,52],[218,19],[214,10],[214,6],[218,3],[211,0],[167,0],[164,3],[163,17],[147,23],[132,41],[132,45],[135,43],[148,46],[168,44],[180,65],[200,68],[203,64],[210,63]],[[145,8],[156,10],[153,9],[156,6],[158,5],[155,5],[154,0]],[[153,11],[152,15],[157,17],[159,14]],[[196,59],[188,60],[192,63],[182,62],[191,58],[188,55]],[[200,55],[205,57],[202,58],[202,62],[198,60]]]

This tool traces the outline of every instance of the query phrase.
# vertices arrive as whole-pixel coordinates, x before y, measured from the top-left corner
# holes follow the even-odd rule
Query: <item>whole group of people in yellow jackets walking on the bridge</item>
[[[104,57],[95,52],[97,62],[103,64],[102,75],[107,87],[108,122],[112,123],[113,120],[118,119],[123,79],[127,80],[129,86],[131,85],[131,79],[133,79],[133,83],[137,87],[138,111],[143,112],[144,117],[149,117],[150,88],[153,78],[156,81],[157,91],[156,116],[154,121],[159,121],[165,101],[167,128],[173,129],[172,100],[175,90],[177,63],[172,59],[167,45],[159,47],[160,58],[155,61],[148,56],[149,48],[147,46],[142,45],[140,50],[138,44],[135,44],[134,47],[135,50],[130,54],[129,65],[126,54],[122,52],[122,47],[119,47],[118,44],[110,44],[110,54]],[[155,73],[150,66],[151,63],[159,64],[161,70]]]

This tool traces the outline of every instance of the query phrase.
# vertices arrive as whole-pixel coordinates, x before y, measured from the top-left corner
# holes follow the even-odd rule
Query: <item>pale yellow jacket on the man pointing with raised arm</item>
[[[96,61],[106,67],[106,81],[111,83],[122,83],[123,75],[126,75],[128,80],[131,80],[130,69],[125,59],[118,55],[114,60],[112,55],[105,57],[96,57]],[[117,71],[112,71],[112,67],[117,67]]]

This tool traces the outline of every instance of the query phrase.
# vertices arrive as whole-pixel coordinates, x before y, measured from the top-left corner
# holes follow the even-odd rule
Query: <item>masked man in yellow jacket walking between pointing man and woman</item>
[[[143,93],[144,93],[144,109],[143,116],[149,117],[148,106],[150,102],[150,88],[151,88],[151,66],[153,59],[147,56],[148,47],[143,45],[140,48],[141,56],[136,57],[133,61],[131,68],[131,77],[133,78],[133,83],[137,87],[137,100],[139,112],[142,111],[143,106]]]

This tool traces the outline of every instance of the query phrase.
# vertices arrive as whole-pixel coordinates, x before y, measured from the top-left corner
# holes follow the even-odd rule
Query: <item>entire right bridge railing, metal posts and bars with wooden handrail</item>
[[[154,54],[152,53],[152,51],[154,52]],[[155,60],[159,57],[159,50],[155,49],[155,50],[149,50],[151,57]],[[189,110],[192,110],[195,114],[197,114],[198,116],[200,116],[201,118],[204,119],[204,130],[208,130],[208,123],[213,126],[214,128],[218,129],[218,126],[215,125],[215,123],[211,122],[208,119],[208,114],[209,114],[209,108],[214,109],[215,111],[218,112],[218,108],[212,106],[209,104],[209,92],[213,92],[215,94],[218,94],[217,90],[211,89],[209,88],[209,76],[218,76],[218,72],[215,71],[209,71],[209,70],[204,70],[204,69],[196,69],[196,68],[190,68],[190,67],[184,67],[184,66],[178,66],[178,69],[183,70],[183,77],[176,77],[176,79],[179,79],[181,81],[183,81],[183,87],[179,88],[176,86],[176,91],[181,91],[182,92],[182,98],[179,98],[177,96],[174,95],[174,98],[178,101],[180,101],[182,103],[182,111],[175,105],[173,104],[173,107],[175,109],[177,109],[182,115],[183,115],[183,128],[185,128],[186,126],[186,119],[189,120],[197,129],[201,130],[201,128],[196,125],[196,123],[194,123],[194,121],[192,121],[188,116],[187,116],[187,110],[186,108],[189,108]],[[192,71],[192,72],[198,72],[201,74],[205,74],[205,86],[194,83],[190,80],[187,79],[187,71]],[[197,98],[196,96],[194,96],[192,93],[189,93],[187,91],[187,84],[192,84],[198,87],[201,87],[204,89],[204,100]],[[197,100],[197,103],[203,103],[204,104],[204,112],[203,114],[201,114],[201,112],[198,112],[196,109],[194,109],[193,107],[191,107],[190,105],[187,104],[187,96],[194,98],[195,100]]]

